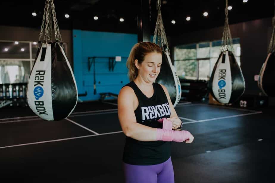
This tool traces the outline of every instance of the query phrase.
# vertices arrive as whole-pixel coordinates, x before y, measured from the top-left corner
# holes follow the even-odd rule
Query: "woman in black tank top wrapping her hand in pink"
[[[118,118],[126,135],[126,183],[174,182],[171,141],[194,139],[188,131],[180,131],[182,122],[166,87],[155,83],[161,63],[162,50],[151,42],[135,44],[126,62],[131,82],[118,94]]]

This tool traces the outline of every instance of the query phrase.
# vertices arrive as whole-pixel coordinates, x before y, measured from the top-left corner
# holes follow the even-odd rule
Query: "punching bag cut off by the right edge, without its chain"
[[[275,97],[275,53],[268,53],[260,70],[258,86],[269,97]]]

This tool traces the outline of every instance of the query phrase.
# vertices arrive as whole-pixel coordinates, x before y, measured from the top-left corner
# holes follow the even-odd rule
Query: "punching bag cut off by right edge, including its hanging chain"
[[[275,4],[274,4],[275,5]],[[274,12],[275,15],[275,12]],[[260,70],[258,86],[265,96],[275,97],[275,16],[272,18],[272,34],[268,47],[268,54]]]

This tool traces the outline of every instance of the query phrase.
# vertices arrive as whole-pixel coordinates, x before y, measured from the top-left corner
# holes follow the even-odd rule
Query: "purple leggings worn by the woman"
[[[171,157],[157,165],[123,165],[125,183],[174,183]]]

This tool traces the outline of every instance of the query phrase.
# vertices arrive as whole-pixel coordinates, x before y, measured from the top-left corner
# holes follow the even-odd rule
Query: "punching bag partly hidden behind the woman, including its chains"
[[[163,26],[160,7],[161,7],[161,3],[160,3],[160,0],[158,0],[157,1],[158,14],[157,14],[157,22],[156,22],[156,27],[154,31],[153,42],[160,45],[160,47],[162,48],[163,54],[162,54],[162,65],[160,67],[160,73],[156,79],[156,82],[164,85],[167,88],[171,98],[171,102],[175,107],[179,103],[179,100],[181,99],[182,91],[181,91],[181,85],[179,82],[179,77],[176,74],[176,69],[170,59],[170,51],[168,48],[168,42],[166,39],[166,34]],[[157,42],[156,42],[156,39],[157,39]]]

